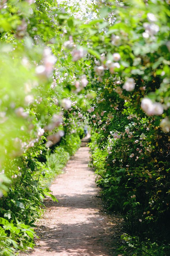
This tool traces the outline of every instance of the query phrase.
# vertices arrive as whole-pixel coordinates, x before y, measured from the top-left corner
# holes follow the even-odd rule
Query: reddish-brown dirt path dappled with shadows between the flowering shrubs
[[[59,203],[46,199],[47,211],[36,230],[40,239],[26,255],[117,255],[114,248],[121,225],[103,210],[94,171],[88,167],[89,156],[83,142],[65,173],[53,182],[51,190]]]

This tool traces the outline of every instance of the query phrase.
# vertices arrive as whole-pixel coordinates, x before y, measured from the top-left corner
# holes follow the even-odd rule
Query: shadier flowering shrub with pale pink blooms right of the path
[[[103,199],[125,214],[126,231],[152,239],[154,232],[158,240],[169,229],[168,3],[128,1],[100,11],[115,21],[100,33],[100,58],[91,60],[97,95],[87,112]]]

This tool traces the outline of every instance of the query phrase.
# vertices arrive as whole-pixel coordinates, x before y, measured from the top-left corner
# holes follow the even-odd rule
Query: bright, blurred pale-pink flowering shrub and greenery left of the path
[[[72,86],[74,74],[62,67],[62,7],[53,1],[0,3],[3,256],[33,247],[30,227],[43,213],[44,197],[57,201],[48,189],[50,181],[61,173],[83,136],[82,99]],[[86,76],[80,82],[84,88]]]

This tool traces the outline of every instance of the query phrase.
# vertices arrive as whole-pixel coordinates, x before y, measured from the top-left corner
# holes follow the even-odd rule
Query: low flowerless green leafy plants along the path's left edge
[[[63,138],[65,144],[61,142],[61,145],[56,146],[53,152],[50,152],[51,150],[47,151],[45,162],[37,161],[40,155],[37,159],[28,157],[24,159],[25,156],[30,157],[28,151],[21,157],[13,159],[8,165],[11,170],[8,170],[6,174],[10,177],[14,173],[13,168],[15,174],[12,175],[12,185],[9,187],[8,193],[0,198],[0,225],[2,225],[0,226],[0,248],[2,251],[0,255],[11,256],[14,255],[16,250],[33,247],[35,234],[30,226],[34,227],[36,219],[41,217],[45,196],[50,196],[53,201],[57,201],[48,187],[55,176],[62,172],[70,158],[69,152],[75,152],[80,145],[79,129],[76,134],[78,144],[70,145],[70,141],[67,143],[67,138]],[[63,145],[65,145],[68,152],[63,149]],[[40,149],[42,147],[39,143],[35,144],[31,149],[31,154],[33,155],[33,152],[35,152],[34,157],[36,157],[37,151],[40,151]],[[17,168],[18,165],[20,167]],[[18,171],[16,171],[16,168]],[[3,182],[7,184],[7,179]]]

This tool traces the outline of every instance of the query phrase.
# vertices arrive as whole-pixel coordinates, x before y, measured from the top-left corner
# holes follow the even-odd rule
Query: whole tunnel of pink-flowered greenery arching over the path
[[[169,5],[0,0],[1,256],[33,247],[87,124],[117,255],[170,255]]]

